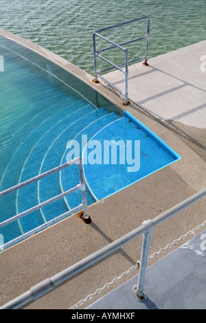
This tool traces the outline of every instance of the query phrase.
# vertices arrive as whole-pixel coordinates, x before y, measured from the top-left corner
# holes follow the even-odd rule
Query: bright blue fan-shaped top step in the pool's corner
[[[181,158],[127,111],[123,118],[109,124],[93,137],[93,140],[102,142],[102,161],[106,150],[103,142],[111,139],[115,143],[108,155],[109,164],[85,163],[87,156],[83,153],[84,177],[95,201],[109,197]],[[119,146],[119,155],[117,153],[117,159],[113,162],[112,149],[116,144]]]

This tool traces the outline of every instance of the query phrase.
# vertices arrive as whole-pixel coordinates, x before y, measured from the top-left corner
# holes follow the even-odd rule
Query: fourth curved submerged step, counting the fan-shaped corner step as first
[[[38,142],[33,142],[34,146],[31,146],[30,151],[27,151],[27,158],[25,159],[25,163],[23,164],[19,182],[25,181],[28,178],[32,178],[38,175],[40,172],[41,164],[45,157],[45,152],[47,151],[47,149],[49,149],[49,146],[56,139],[56,137],[58,137],[59,133],[61,133],[66,127],[68,127],[69,124],[72,124],[76,119],[80,118],[82,115],[87,115],[87,113],[90,113],[91,111],[94,111],[91,104],[88,104],[87,106],[82,107],[78,110],[74,107],[74,111],[70,111],[69,115],[65,112],[63,114],[61,113],[61,115],[58,115],[58,119],[62,119],[58,120],[57,118],[55,118],[54,120],[50,120],[49,124],[47,124],[47,127],[45,127],[45,130],[47,129],[47,131],[43,133]],[[32,208],[32,206],[38,204],[37,190],[38,183],[33,183],[30,186],[21,188],[21,190],[17,192],[17,213],[23,212],[24,210]],[[44,222],[45,218],[43,217],[41,210],[38,210],[20,219],[19,225],[21,227],[21,231],[26,232],[28,230],[32,230],[34,227]]]

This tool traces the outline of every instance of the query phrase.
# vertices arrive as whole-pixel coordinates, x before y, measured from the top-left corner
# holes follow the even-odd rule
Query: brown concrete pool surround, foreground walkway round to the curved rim
[[[0,30],[0,34],[2,33],[2,30]],[[21,38],[18,36],[14,38],[21,41]],[[184,136],[168,128],[167,124],[163,123],[164,120],[157,118],[157,116],[155,117],[152,113],[148,113],[143,107],[139,107],[132,102],[132,99],[130,99],[131,103],[124,107],[122,99],[116,93],[107,89],[102,82],[98,85],[91,82],[93,76],[62,58],[49,53],[45,49],[41,49],[37,45],[28,43],[25,40],[23,42],[25,45],[34,47],[36,51],[41,51],[45,56],[64,66],[65,69],[68,69],[72,74],[75,74],[78,78],[81,78],[91,87],[102,93],[102,95],[106,96],[120,109],[128,110],[135,118],[146,124],[146,126],[179,153],[182,159],[138,181],[133,186],[108,197],[108,199],[103,199],[89,206],[89,214],[92,219],[91,224],[86,225],[80,219],[79,214],[74,214],[68,219],[60,221],[60,223],[52,225],[52,227],[47,228],[43,232],[35,234],[25,241],[1,252],[0,306],[21,295],[21,293],[29,290],[30,287],[45,278],[58,274],[59,271],[89,256],[89,254],[93,254],[93,252],[108,243],[115,241],[117,238],[141,225],[143,221],[152,219],[206,187],[206,162],[202,155],[203,151],[196,151],[196,148],[194,148],[194,146],[197,146],[195,141],[197,143],[200,141],[199,135],[194,137],[191,134],[192,139],[194,139],[194,146],[192,146],[190,140],[185,142]],[[188,53],[187,55],[187,59],[190,62],[190,54]],[[157,62],[159,60],[159,64],[161,64],[161,56],[154,59]],[[201,63],[199,59],[198,57],[198,62]],[[172,70],[170,70],[170,73],[172,74]],[[190,74],[190,78],[193,77],[194,74]],[[192,80],[188,79],[187,82],[192,82]],[[174,109],[176,109],[176,102],[178,102],[179,96],[176,96],[176,91],[172,91],[170,94],[173,96],[172,102]],[[192,96],[192,92],[190,95]],[[196,102],[196,107],[202,105],[196,95],[193,95],[191,100]],[[194,113],[197,110],[194,109]],[[179,110],[180,113],[181,111]],[[197,127],[195,126],[195,128]],[[200,129],[200,133],[202,134],[202,129]],[[203,146],[203,144],[201,145]],[[206,201],[202,199],[155,228],[152,233],[149,254],[157,252],[161,247],[165,247],[168,243],[172,243],[174,239],[179,238],[203,223],[205,221],[205,206]],[[198,230],[197,233],[199,232],[201,230]],[[190,238],[191,236],[185,238],[182,244],[190,240]],[[157,260],[176,249],[176,247],[179,247],[179,245],[167,249],[163,254],[150,260],[148,265],[156,263]],[[65,285],[36,300],[36,302],[27,305],[25,308],[69,309],[96,289],[103,287],[106,282],[111,282],[113,278],[135,265],[137,260],[140,260],[140,254],[141,238],[137,238],[119,249],[118,252],[114,252],[111,256],[101,260],[97,265],[89,267],[82,274],[74,276]],[[133,272],[126,276],[126,278],[122,278],[116,284],[111,285],[109,289],[100,293],[100,295],[85,302],[78,309],[89,307],[95,300],[102,298],[105,293],[122,285],[123,282],[126,282],[126,280],[136,274],[136,272]]]

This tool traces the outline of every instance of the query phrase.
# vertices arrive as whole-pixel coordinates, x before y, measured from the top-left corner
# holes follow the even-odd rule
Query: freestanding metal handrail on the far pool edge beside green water
[[[142,20],[142,19],[148,19],[146,36],[142,36],[142,37],[139,37],[139,38],[135,38],[135,39],[133,39],[131,41],[125,41],[124,43],[117,44],[117,43],[111,41],[110,39],[108,39],[108,38],[106,38],[106,37],[104,37],[104,36],[102,36],[100,34],[100,32],[103,32],[105,30],[109,30],[109,29],[112,29],[112,28],[115,28],[115,27],[126,25],[128,23],[133,23],[135,21],[139,21],[139,20]],[[99,82],[98,78],[101,78],[102,80],[104,80],[104,82],[106,82],[108,85],[110,85],[111,87],[116,89],[119,93],[122,93],[122,95],[124,95],[124,103],[123,104],[127,105],[129,103],[128,102],[128,64],[129,63],[135,63],[138,60],[143,60],[144,59],[144,64],[148,65],[147,61],[148,61],[148,41],[149,41],[149,34],[150,34],[150,14],[148,14],[147,16],[141,16],[141,17],[139,17],[137,19],[132,19],[132,20],[129,20],[129,21],[125,21],[124,23],[118,23],[117,25],[111,25],[109,27],[104,27],[104,28],[99,29],[99,30],[94,30],[92,33],[93,33],[94,69],[95,69],[95,75],[94,75],[95,78],[94,78],[93,82],[98,83]],[[111,45],[113,45],[113,46],[105,47],[103,49],[96,50],[95,36],[98,36],[99,38],[102,38],[104,41],[107,41],[108,43],[111,43]],[[136,41],[141,41],[143,39],[146,39],[146,54],[145,54],[145,56],[128,61],[128,49],[125,48],[125,47],[122,47],[122,45],[135,43]],[[113,62],[111,62],[111,60],[108,60],[104,56],[100,55],[101,52],[105,52],[106,50],[113,49],[115,47],[117,47],[119,49],[122,49],[122,51],[125,54],[125,62],[122,63],[122,64],[119,64],[119,65],[114,64]],[[104,60],[109,65],[112,65],[112,67],[108,67],[107,69],[102,69],[101,71],[98,71],[98,69],[97,69],[97,57],[101,58],[102,60]],[[120,66],[125,66],[125,70],[122,69]],[[113,85],[111,82],[106,80],[106,78],[104,78],[103,76],[100,75],[100,73],[103,73],[105,71],[109,71],[109,70],[114,69],[114,68],[119,69],[119,71],[122,71],[122,73],[125,75],[125,91],[124,92],[121,89],[119,89],[118,87],[116,87],[115,85]]]

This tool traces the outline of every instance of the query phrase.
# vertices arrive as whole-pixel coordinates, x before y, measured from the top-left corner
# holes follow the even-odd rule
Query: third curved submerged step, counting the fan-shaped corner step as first
[[[104,109],[98,109],[95,111],[91,111],[87,115],[82,116],[82,118],[73,122],[70,126],[68,126],[51,144],[47,152],[45,153],[45,157],[43,159],[41,165],[41,172],[45,172],[50,168],[54,168],[60,165],[60,161],[62,159],[62,155],[65,153],[66,145],[69,140],[73,140],[82,128],[96,120],[97,118],[101,118],[103,115],[108,112]],[[71,166],[71,168],[76,168],[77,165]],[[76,184],[75,184],[76,186]],[[73,187],[73,183],[69,183],[69,188]],[[38,201],[39,203],[54,197],[57,194],[60,194],[60,183],[59,183],[59,174],[55,173],[54,175],[43,179],[38,183]],[[47,205],[42,209],[43,216],[46,221],[50,219],[54,219],[55,216],[58,216],[62,212],[66,212],[67,205],[63,199],[52,203],[51,205]]]

